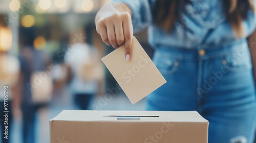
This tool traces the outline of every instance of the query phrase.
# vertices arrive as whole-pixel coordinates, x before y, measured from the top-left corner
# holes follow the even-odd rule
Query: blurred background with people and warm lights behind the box
[[[10,89],[9,142],[49,142],[49,120],[65,109],[144,110],[144,100],[132,105],[100,60],[114,50],[94,25],[108,2],[0,0],[0,85]],[[152,57],[146,30],[135,36]]]

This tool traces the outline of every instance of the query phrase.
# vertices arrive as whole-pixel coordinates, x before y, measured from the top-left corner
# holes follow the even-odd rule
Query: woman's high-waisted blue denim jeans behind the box
[[[154,63],[167,81],[147,110],[197,110],[209,121],[209,143],[252,143],[256,100],[246,39],[219,47],[159,47]]]

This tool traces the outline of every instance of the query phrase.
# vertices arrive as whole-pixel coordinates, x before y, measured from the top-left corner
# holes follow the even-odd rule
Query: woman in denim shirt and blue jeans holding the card
[[[167,83],[147,97],[147,110],[197,110],[209,121],[209,143],[252,143],[256,100],[246,38],[254,16],[251,0],[113,0],[95,24],[107,45],[124,43],[127,62],[133,30],[148,27]]]

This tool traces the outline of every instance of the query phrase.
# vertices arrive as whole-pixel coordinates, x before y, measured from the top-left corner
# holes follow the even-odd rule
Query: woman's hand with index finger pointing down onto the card
[[[132,57],[132,18],[128,12],[101,14],[96,22],[96,30],[103,42],[115,49],[124,43],[126,61]]]

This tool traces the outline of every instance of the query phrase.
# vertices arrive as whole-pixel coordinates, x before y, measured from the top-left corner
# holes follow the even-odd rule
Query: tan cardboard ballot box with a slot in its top
[[[51,143],[206,143],[196,111],[63,110],[50,120]]]

